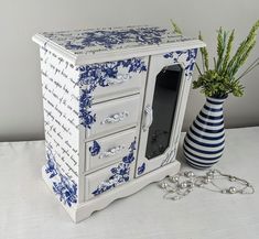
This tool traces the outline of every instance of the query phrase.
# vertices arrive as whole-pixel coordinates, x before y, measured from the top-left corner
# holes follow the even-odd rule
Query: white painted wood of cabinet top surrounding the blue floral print
[[[101,63],[108,61],[118,61],[121,58],[142,57],[154,54],[162,54],[171,51],[185,51],[191,47],[203,47],[205,44],[198,40],[188,39],[179,34],[173,33],[171,30],[165,30],[161,35],[157,35],[160,42],[153,42],[147,44],[143,40],[143,44],[137,43],[138,35],[132,34],[130,41],[118,42],[115,47],[104,47],[104,45],[91,45],[83,48],[66,47],[66,43],[80,45],[83,36],[88,32],[102,31],[129,31],[133,30],[138,32],[141,28],[149,28],[152,31],[161,31],[165,29],[150,28],[150,26],[128,26],[128,28],[115,28],[115,29],[89,29],[78,31],[64,31],[58,33],[42,33],[35,34],[33,41],[39,45],[44,46],[46,50],[55,52],[57,55],[62,55],[66,61],[73,65],[86,65],[91,63]],[[129,33],[130,34],[130,33]],[[108,37],[108,36],[107,36]],[[94,41],[94,40],[93,40]]]

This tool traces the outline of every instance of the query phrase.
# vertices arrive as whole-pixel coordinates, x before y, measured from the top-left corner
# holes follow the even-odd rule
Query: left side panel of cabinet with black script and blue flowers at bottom
[[[62,57],[41,47],[45,173],[53,191],[68,206],[78,197],[79,87],[78,72]]]

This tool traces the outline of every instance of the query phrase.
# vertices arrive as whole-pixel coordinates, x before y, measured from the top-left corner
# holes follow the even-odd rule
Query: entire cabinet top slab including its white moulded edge
[[[168,29],[147,25],[43,32],[32,39],[74,65],[141,57],[205,45]]]

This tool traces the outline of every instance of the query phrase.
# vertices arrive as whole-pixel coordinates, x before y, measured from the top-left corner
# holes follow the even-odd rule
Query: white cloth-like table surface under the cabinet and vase
[[[182,141],[183,161],[181,149]],[[225,153],[215,166],[248,180],[253,195],[196,189],[172,202],[151,184],[77,225],[41,178],[44,141],[0,143],[0,239],[259,238],[259,127],[227,130]],[[184,162],[182,167],[190,169]]]

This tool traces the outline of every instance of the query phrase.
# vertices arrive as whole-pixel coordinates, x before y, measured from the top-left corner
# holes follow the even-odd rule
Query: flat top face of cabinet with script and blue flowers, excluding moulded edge
[[[168,29],[147,25],[44,32],[42,35],[76,55],[190,40]]]

